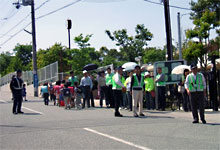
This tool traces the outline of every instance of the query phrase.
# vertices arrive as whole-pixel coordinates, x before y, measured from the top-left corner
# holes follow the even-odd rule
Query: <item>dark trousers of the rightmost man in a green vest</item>
[[[199,120],[198,109],[200,113],[200,119],[205,120],[204,115],[204,93],[203,92],[191,92],[190,96],[192,104],[192,115],[195,121]]]

